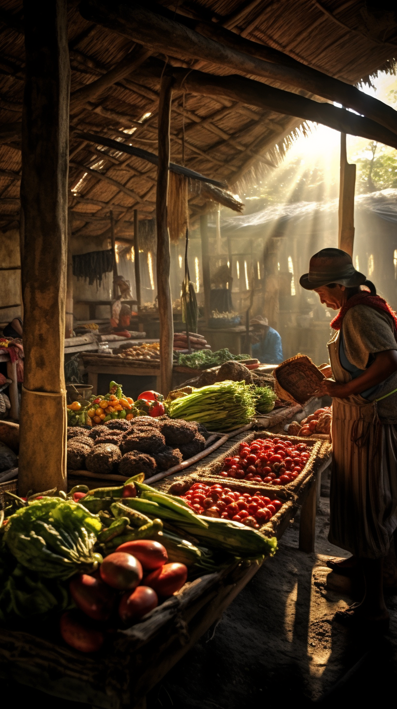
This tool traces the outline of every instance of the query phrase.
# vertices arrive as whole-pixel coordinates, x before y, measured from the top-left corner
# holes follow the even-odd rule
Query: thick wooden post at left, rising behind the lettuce
[[[20,495],[66,490],[63,370],[69,156],[69,54],[66,0],[23,3],[21,204],[25,381],[21,402]]]

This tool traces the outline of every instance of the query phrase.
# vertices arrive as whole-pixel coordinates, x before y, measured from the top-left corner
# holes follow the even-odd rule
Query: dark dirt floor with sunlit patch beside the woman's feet
[[[339,704],[364,706],[396,697],[397,595],[386,602],[391,629],[360,635],[334,623],[359,589],[325,561],[340,555],[327,540],[329,482],[321,486],[314,554],[298,550],[298,518],[256,576],[200,642],[147,697],[147,709],[245,709]],[[339,581],[339,583],[337,583]],[[16,702],[16,697],[18,701]],[[4,706],[86,709],[24,686],[3,686]],[[391,705],[395,705],[392,700]]]

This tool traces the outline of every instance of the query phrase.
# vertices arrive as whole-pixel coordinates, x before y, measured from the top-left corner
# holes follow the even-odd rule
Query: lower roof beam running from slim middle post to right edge
[[[220,77],[214,74],[192,71],[186,74],[184,69],[172,69],[176,79],[176,88],[183,85],[191,94],[203,96],[226,96],[234,101],[241,101],[249,106],[258,106],[268,111],[284,113],[286,116],[296,116],[304,121],[314,121],[328,125],[340,133],[359,135],[368,140],[397,147],[397,133],[384,128],[371,118],[357,116],[330,104],[320,104],[305,96],[291,94],[289,91],[274,89],[273,86],[246,79],[237,74]]]

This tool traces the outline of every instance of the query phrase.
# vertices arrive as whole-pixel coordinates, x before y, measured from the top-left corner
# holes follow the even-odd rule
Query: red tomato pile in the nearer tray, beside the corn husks
[[[247,527],[259,529],[279,511],[281,501],[261,495],[233,492],[220,484],[194,483],[183,496],[196,514],[241,522]]]

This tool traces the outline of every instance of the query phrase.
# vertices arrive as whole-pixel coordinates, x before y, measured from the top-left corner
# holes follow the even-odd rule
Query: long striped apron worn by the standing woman
[[[351,380],[339,357],[339,330],[328,342],[335,381]],[[332,398],[332,476],[328,540],[357,557],[388,553],[397,527],[397,430],[382,425],[376,401]]]

